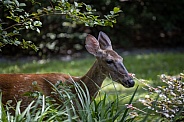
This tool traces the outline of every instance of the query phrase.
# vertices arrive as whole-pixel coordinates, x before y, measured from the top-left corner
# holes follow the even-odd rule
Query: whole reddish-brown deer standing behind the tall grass
[[[8,100],[22,100],[22,105],[28,105],[30,98],[24,96],[26,92],[41,91],[45,95],[50,95],[52,86],[57,81],[80,82],[82,81],[88,88],[90,97],[95,97],[102,82],[106,77],[129,88],[134,86],[134,81],[123,65],[123,58],[113,49],[109,37],[100,32],[98,40],[92,36],[86,37],[86,49],[96,57],[96,61],[90,70],[82,77],[73,77],[60,73],[48,74],[0,74],[0,92],[2,92],[2,102]],[[72,80],[72,81],[71,81]],[[32,85],[33,82],[37,85]],[[49,82],[48,82],[49,81]]]

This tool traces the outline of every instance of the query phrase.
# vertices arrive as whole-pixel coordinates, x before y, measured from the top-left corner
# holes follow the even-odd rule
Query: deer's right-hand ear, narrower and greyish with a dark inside
[[[104,32],[99,32],[98,41],[100,43],[101,49],[112,50],[111,40]]]

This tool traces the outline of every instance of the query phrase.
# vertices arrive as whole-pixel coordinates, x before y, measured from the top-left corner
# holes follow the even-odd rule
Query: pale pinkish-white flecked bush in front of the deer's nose
[[[145,80],[139,80],[146,86],[148,94],[139,101],[150,111],[164,118],[176,121],[184,119],[184,74],[179,76],[160,76],[164,85],[152,87]]]

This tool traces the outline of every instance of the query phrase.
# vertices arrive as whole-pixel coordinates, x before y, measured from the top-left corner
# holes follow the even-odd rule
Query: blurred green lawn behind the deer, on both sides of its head
[[[123,56],[124,64],[136,77],[156,80],[157,75],[166,73],[176,75],[184,70],[183,53],[158,53]],[[45,73],[62,72],[74,76],[85,74],[95,58],[76,59],[73,61],[42,60],[1,62],[0,73]]]

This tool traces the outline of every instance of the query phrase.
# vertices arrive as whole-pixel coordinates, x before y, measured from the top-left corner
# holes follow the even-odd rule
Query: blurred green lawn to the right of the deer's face
[[[177,75],[184,70],[182,53],[156,53],[130,55],[125,57],[125,65],[136,77],[157,80],[160,74]]]

